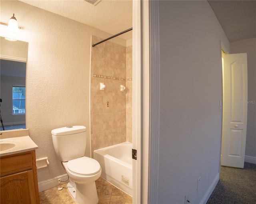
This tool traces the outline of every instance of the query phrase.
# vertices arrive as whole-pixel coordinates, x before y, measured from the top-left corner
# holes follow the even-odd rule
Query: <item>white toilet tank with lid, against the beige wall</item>
[[[62,162],[82,157],[86,148],[86,127],[68,126],[54,129],[52,142],[57,157]]]

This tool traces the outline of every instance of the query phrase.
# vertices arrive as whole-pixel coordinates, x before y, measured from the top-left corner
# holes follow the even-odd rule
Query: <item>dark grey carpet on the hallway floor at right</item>
[[[220,180],[206,204],[256,204],[256,164],[221,166]]]

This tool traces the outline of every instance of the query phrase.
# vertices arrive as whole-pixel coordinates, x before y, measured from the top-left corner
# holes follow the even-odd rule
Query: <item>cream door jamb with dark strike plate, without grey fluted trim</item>
[[[132,22],[132,145],[133,203],[148,203],[149,120],[150,120],[150,23],[149,0],[133,0]]]

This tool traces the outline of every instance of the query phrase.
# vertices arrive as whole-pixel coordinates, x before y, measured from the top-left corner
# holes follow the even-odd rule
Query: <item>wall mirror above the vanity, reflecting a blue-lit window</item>
[[[26,128],[26,63],[28,42],[0,37],[1,130]]]

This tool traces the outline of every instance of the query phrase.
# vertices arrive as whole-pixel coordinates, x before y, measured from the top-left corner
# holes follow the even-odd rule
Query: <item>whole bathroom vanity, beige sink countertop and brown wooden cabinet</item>
[[[2,135],[5,132],[1,132]],[[40,204],[36,172],[38,146],[29,136],[0,138],[1,204]]]

